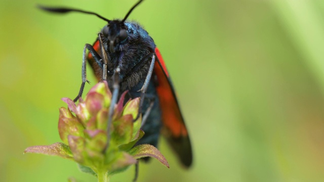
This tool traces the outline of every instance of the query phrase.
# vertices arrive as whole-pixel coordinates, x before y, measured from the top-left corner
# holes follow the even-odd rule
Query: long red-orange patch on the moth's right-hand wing
[[[155,48],[155,55],[161,64],[160,66],[155,61],[154,73],[158,81],[156,91],[162,110],[162,121],[173,137],[179,138],[180,136],[187,136],[188,132],[180,112],[166,64],[157,48]]]

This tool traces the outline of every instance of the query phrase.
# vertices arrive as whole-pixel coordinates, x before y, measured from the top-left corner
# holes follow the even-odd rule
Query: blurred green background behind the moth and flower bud
[[[23,151],[60,141],[60,99],[76,96],[84,45],[105,22],[35,5],[122,18],[136,1],[0,2],[0,181],[96,181],[72,161]],[[130,19],[165,59],[194,151],[185,170],[162,140],[171,168],[142,164],[139,181],[324,180],[324,1],[146,0]]]

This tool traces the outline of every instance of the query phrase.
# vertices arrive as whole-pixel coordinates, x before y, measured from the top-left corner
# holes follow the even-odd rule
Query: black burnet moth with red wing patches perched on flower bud
[[[128,98],[141,98],[138,117],[140,113],[143,116],[141,129],[145,135],[137,145],[151,144],[156,147],[159,134],[163,130],[161,133],[181,163],[189,167],[192,163],[189,135],[166,65],[147,31],[138,23],[127,20],[142,2],[143,0],[138,1],[122,20],[109,20],[97,13],[78,9],[44,6],[39,8],[61,14],[79,12],[96,15],[107,22],[93,45],[88,43],[85,45],[82,85],[74,102],[82,96],[85,83],[88,81],[86,75],[88,61],[96,78],[99,81],[107,80],[113,93],[112,104],[117,102],[120,93],[125,90],[129,90]],[[113,113],[113,107],[110,108],[108,123]]]

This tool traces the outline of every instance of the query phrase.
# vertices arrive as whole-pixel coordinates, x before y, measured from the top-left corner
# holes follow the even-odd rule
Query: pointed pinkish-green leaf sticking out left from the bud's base
[[[24,153],[45,154],[73,160],[73,155],[69,146],[60,142],[48,146],[28,147],[27,149],[25,149]]]

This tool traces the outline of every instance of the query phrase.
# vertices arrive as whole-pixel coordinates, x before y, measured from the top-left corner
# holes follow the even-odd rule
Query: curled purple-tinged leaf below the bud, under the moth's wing
[[[135,159],[143,158],[143,157],[153,157],[160,161],[163,165],[170,168],[167,159],[158,151],[154,146],[149,144],[143,144],[134,147],[133,149],[129,150],[128,153],[132,155]]]

